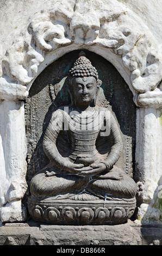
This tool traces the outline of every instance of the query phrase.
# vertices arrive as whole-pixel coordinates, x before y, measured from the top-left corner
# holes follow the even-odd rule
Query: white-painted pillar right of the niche
[[[139,220],[159,220],[162,216],[162,109],[143,108],[136,119],[136,180],[139,185]]]

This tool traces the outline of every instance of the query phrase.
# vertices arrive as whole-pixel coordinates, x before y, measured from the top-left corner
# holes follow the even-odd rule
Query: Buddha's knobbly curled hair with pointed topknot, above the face
[[[68,72],[68,75],[71,78],[93,76],[96,78],[97,83],[100,84],[96,68],[92,66],[90,60],[85,57],[85,53],[83,51],[80,52],[79,58],[74,63],[72,69]]]

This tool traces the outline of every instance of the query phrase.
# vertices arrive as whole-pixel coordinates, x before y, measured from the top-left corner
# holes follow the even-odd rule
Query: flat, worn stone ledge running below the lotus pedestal
[[[52,225],[29,221],[0,227],[0,245],[55,245],[104,247],[107,245],[162,245],[162,224],[128,220],[120,225]],[[71,246],[71,247],[70,247]],[[105,247],[107,250],[107,247]],[[108,251],[106,251],[108,252]]]

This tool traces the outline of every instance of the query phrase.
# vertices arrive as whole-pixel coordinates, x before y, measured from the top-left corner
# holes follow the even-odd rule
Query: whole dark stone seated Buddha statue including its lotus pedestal
[[[80,56],[67,76],[71,103],[54,111],[43,137],[49,163],[30,182],[28,208],[36,221],[111,224],[134,213],[136,184],[115,166],[123,149],[119,124],[111,108],[96,103],[101,84]],[[103,153],[99,139],[109,145]]]

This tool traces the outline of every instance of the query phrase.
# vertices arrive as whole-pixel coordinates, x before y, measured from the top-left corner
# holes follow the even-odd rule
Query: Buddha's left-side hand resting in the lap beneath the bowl
[[[87,166],[84,167],[84,164],[79,163],[72,163],[72,162],[66,162],[66,164],[64,165],[64,169],[67,172],[73,173],[73,174],[79,174],[79,175],[84,175],[82,174],[82,172],[88,172],[89,170],[92,170],[92,167]]]

